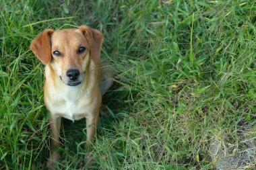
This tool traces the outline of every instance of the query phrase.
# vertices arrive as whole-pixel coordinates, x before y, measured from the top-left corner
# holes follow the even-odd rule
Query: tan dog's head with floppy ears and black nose
[[[103,36],[88,26],[78,29],[44,30],[30,49],[44,65],[51,65],[57,76],[69,86],[82,83],[90,62],[100,60]]]

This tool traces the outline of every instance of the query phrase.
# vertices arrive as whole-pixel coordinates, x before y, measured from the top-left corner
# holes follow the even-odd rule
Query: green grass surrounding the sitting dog
[[[0,21],[0,169],[45,169],[44,65],[29,45],[82,24],[115,69],[92,169],[214,169],[243,153],[255,169],[255,1],[0,0]],[[86,121],[63,124],[59,168],[85,169]]]

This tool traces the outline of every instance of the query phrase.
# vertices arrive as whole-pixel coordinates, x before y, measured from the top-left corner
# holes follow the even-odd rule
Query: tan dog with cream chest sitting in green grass
[[[46,65],[44,103],[50,112],[51,156],[48,166],[59,161],[61,117],[86,118],[87,142],[96,132],[102,95],[113,85],[113,70],[100,67],[103,36],[88,26],[78,29],[45,30],[30,49]]]

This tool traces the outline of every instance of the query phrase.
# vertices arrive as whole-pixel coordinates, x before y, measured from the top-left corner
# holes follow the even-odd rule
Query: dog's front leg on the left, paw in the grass
[[[51,155],[47,163],[47,167],[50,169],[55,169],[57,162],[59,161],[59,151],[55,149],[60,145],[59,143],[59,132],[61,130],[61,117],[55,118],[55,116],[50,115],[50,127],[51,127]]]

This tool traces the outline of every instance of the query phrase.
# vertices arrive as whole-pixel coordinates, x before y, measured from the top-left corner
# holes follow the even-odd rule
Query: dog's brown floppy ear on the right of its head
[[[81,30],[89,41],[91,48],[91,55],[95,61],[100,60],[100,50],[103,42],[103,35],[99,30],[92,29],[88,26],[80,26]]]

